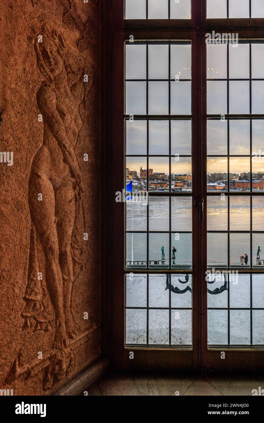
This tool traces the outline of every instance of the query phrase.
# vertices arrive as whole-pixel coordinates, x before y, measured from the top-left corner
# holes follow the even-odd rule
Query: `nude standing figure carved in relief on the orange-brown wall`
[[[91,88],[83,82],[82,60],[70,60],[74,52],[63,37],[42,25],[42,42],[34,43],[38,69],[43,81],[36,92],[36,101],[43,116],[43,140],[31,162],[28,180],[28,206],[31,218],[30,250],[27,269],[25,307],[21,316],[23,329],[51,330],[42,319],[43,295],[47,288],[55,313],[53,348],[63,349],[79,328],[74,322],[71,301],[74,277],[74,229],[82,215],[85,192],[83,176],[75,154],[79,132],[83,126],[81,104]],[[75,63],[75,69],[72,69]],[[76,64],[77,63],[77,64]],[[38,193],[42,201],[38,201]],[[46,262],[45,284],[39,280],[37,242]],[[76,247],[76,245],[75,245]],[[83,249],[80,246],[79,251]],[[78,255],[80,257],[80,254]],[[81,266],[81,262],[79,261]]]

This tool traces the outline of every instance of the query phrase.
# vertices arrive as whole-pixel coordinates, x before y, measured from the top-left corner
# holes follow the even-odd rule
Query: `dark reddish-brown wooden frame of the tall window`
[[[121,12],[122,11],[122,12]],[[105,157],[104,181],[107,194],[103,200],[105,207],[104,233],[106,255],[103,273],[104,293],[104,328],[103,351],[115,368],[119,369],[168,369],[168,370],[264,370],[263,351],[228,350],[225,360],[220,360],[220,352],[225,346],[210,349],[207,346],[207,284],[206,264],[206,43],[208,32],[239,31],[239,38],[263,38],[264,18],[259,19],[206,19],[206,0],[192,0],[192,19],[190,20],[129,20],[123,16],[123,0],[107,0],[104,8],[106,22],[104,52],[104,76],[106,78],[104,97],[104,143]],[[229,31],[228,31],[229,30]],[[231,31],[232,32],[232,31]],[[233,31],[234,32],[234,31]],[[121,190],[124,181],[124,41],[133,35],[135,40],[179,40],[192,39],[192,99],[196,110],[193,117],[192,154],[196,157],[196,170],[193,168],[193,198],[199,206],[204,201],[204,219],[200,221],[199,207],[193,207],[192,230],[193,255],[192,279],[193,295],[193,348],[190,351],[179,349],[133,349],[124,346],[124,208],[115,202],[116,190]],[[194,60],[195,59],[195,63]],[[195,72],[195,69],[197,72]],[[196,90],[196,91],[195,91]],[[192,102],[194,105],[194,102]],[[194,110],[192,110],[192,114]],[[121,136],[122,134],[122,136]],[[196,143],[194,140],[196,139]],[[194,162],[194,160],[193,160]],[[194,164],[194,163],[193,163]],[[119,188],[120,187],[120,188]],[[178,195],[178,193],[176,193]],[[121,231],[121,233],[120,233]],[[195,231],[195,236],[194,236]],[[193,247],[194,248],[194,247]],[[146,272],[146,269],[144,269]],[[134,270],[137,273],[136,270]],[[157,272],[157,271],[155,271]],[[185,272],[185,271],[184,271]],[[139,272],[140,273],[140,272]],[[143,273],[143,272],[141,272]],[[151,272],[148,271],[150,274]],[[173,273],[181,273],[173,269]],[[247,272],[248,273],[248,272]],[[256,273],[253,269],[252,273]],[[137,359],[129,360],[129,351],[136,352]]]

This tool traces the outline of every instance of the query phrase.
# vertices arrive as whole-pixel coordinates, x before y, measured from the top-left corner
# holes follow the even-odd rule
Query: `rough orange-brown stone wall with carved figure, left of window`
[[[0,385],[51,395],[101,355],[101,1],[3,0],[0,44]]]

